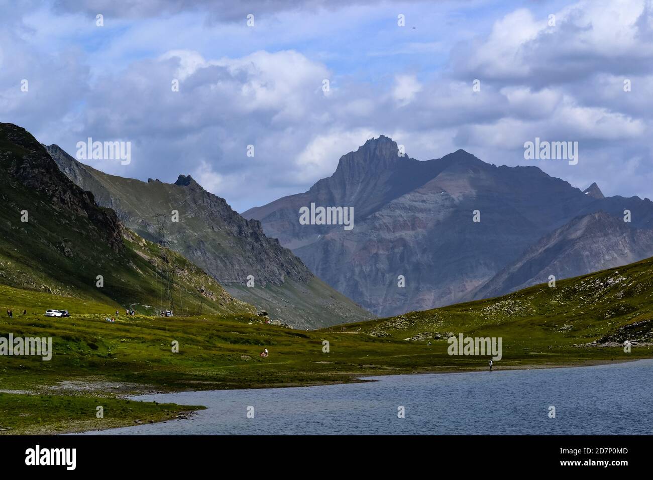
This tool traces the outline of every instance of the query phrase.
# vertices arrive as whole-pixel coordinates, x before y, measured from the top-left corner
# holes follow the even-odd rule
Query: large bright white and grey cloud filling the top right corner
[[[653,60],[650,0],[580,1],[555,25],[520,8],[497,20],[485,39],[455,50],[460,76],[502,82],[573,82],[596,72],[638,70]],[[648,69],[652,67],[649,65]]]

